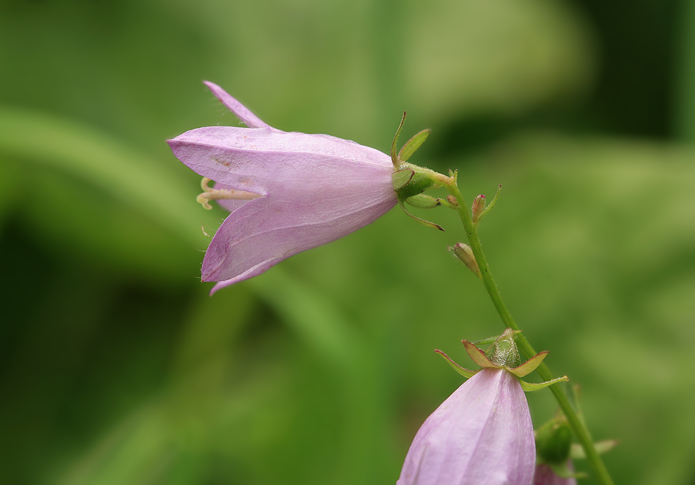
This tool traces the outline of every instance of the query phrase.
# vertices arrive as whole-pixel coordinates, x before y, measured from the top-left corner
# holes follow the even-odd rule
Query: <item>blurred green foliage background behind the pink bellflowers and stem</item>
[[[165,139],[280,129],[459,169],[521,328],[617,483],[695,483],[695,8],[676,0],[0,0],[0,481],[393,484],[502,331],[398,209],[212,298],[224,212]],[[535,424],[555,412],[528,395]],[[586,469],[585,463],[578,468]],[[584,484],[595,483],[587,479]]]

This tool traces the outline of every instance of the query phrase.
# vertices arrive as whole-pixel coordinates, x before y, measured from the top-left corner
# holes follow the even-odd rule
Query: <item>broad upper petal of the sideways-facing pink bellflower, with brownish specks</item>
[[[353,182],[357,182],[353,190],[367,184],[382,191],[388,186],[393,192],[388,155],[333,136],[270,128],[204,127],[168,143],[174,155],[199,175],[263,196],[284,188],[313,189],[327,196],[336,184]]]

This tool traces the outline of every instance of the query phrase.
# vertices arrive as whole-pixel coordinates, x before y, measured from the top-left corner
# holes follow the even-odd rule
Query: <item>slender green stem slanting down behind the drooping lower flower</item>
[[[490,267],[487,264],[487,260],[485,259],[485,255],[482,251],[482,245],[480,244],[480,237],[478,237],[476,225],[475,223],[473,223],[473,218],[471,217],[471,214],[469,214],[468,212],[468,207],[466,207],[466,203],[464,202],[463,196],[461,196],[461,191],[459,191],[459,187],[457,186],[455,179],[452,178],[450,183],[445,185],[451,193],[451,195],[456,198],[459,204],[458,211],[459,215],[461,216],[461,222],[464,223],[464,228],[466,229],[468,245],[471,246],[471,249],[473,250],[473,255],[475,255],[475,260],[477,261],[478,267],[480,268],[482,283],[485,286],[487,293],[490,295],[493,305],[495,305],[495,308],[497,309],[497,312],[500,314],[500,317],[502,318],[502,321],[504,322],[505,326],[513,328],[514,330],[519,330],[516,321],[514,321],[514,318],[512,318],[512,314],[509,313],[509,310],[507,309],[507,305],[505,305],[505,302],[502,301],[502,295],[500,295],[500,290],[497,288],[495,280],[493,280],[492,278]],[[523,353],[526,356],[526,358],[531,358],[532,356],[538,353],[531,346],[528,340],[526,340],[526,337],[523,335],[523,333],[517,334],[516,344],[518,345],[519,350],[521,350],[521,353]],[[545,363],[539,365],[537,371],[544,381],[550,381],[553,379],[553,373],[550,372],[548,365],[546,365]],[[598,481],[603,485],[613,485],[613,480],[608,474],[608,470],[606,469],[605,464],[600,459],[600,456],[598,456],[598,452],[596,452],[596,447],[594,447],[594,440],[591,439],[589,429],[587,429],[587,426],[586,424],[584,424],[584,421],[580,418],[580,416],[575,412],[574,408],[571,406],[569,399],[567,398],[567,395],[564,392],[564,389],[559,385],[554,384],[550,386],[550,390],[553,392],[555,399],[557,399],[557,404],[559,404],[560,408],[562,409],[562,412],[567,418],[567,421],[569,422],[570,427],[574,431],[575,436],[584,448],[584,452],[587,454],[587,460],[589,461],[591,468],[594,469],[594,472],[598,477]]]

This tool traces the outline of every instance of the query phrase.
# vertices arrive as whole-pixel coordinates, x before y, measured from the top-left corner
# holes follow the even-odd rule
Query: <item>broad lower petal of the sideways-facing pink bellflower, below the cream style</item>
[[[331,198],[281,193],[250,200],[229,214],[213,237],[203,260],[202,280],[236,283],[262,272],[254,269],[265,271],[301,251],[350,234],[395,205],[390,184],[386,189],[391,191],[386,197],[379,191],[359,193],[337,186]]]

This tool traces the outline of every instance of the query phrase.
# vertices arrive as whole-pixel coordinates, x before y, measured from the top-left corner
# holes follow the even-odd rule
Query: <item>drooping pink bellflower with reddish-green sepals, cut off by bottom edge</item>
[[[521,381],[519,377],[538,367],[547,352],[519,365],[514,333],[508,328],[486,353],[463,341],[482,366],[477,371],[460,367],[438,351],[470,379],[420,427],[397,485],[532,485],[536,447],[524,390],[567,378],[541,384]]]

